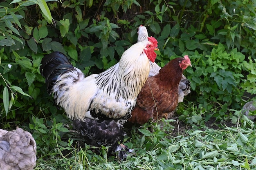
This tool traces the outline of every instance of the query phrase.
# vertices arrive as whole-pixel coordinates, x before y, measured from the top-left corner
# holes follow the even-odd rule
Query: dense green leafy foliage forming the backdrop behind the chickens
[[[39,72],[43,55],[61,51],[85,75],[99,73],[117,63],[137,41],[140,24],[158,40],[160,66],[174,57],[190,56],[193,67],[184,75],[191,81],[191,94],[179,104],[180,120],[202,126],[214,117],[236,124],[240,115],[234,113],[249,100],[243,97],[245,92],[256,93],[255,20],[256,2],[249,0],[4,0],[0,2],[0,127],[27,127],[36,139],[39,157],[56,146],[70,146],[63,137],[68,127],[64,125],[71,123],[46,93]],[[185,159],[180,161],[185,165]]]

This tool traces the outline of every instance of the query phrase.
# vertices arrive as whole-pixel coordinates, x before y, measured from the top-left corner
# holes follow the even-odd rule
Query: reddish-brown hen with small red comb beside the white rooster
[[[137,103],[128,120],[134,124],[145,124],[150,118],[158,119],[177,107],[179,84],[183,70],[192,66],[189,56],[178,57],[168,62],[155,76],[148,77],[137,97]]]

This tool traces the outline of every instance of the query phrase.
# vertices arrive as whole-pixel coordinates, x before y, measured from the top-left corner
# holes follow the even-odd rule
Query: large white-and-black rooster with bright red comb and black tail
[[[64,108],[74,128],[94,146],[112,146],[119,159],[131,150],[120,142],[124,123],[131,117],[137,95],[149,74],[149,62],[155,61],[157,40],[138,42],[127,49],[119,63],[108,70],[85,77],[67,57],[54,52],[42,59],[40,72],[47,91]]]

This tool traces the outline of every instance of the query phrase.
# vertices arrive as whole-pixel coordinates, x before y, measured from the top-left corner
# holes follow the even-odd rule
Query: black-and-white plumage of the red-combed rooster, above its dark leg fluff
[[[119,63],[100,74],[85,77],[60,52],[46,55],[40,71],[48,92],[70,119],[128,119],[149,73],[146,44],[131,46]]]

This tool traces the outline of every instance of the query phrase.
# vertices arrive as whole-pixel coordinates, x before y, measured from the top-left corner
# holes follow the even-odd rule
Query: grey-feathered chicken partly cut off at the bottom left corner
[[[21,128],[0,129],[0,170],[33,170],[36,165],[36,141]]]

